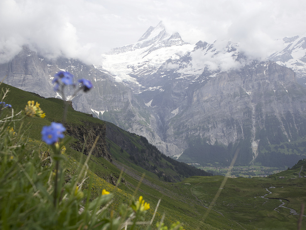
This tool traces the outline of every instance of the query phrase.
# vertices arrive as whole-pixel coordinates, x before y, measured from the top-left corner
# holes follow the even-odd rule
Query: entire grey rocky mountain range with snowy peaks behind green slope
[[[74,109],[185,162],[229,165],[239,151],[237,164],[288,167],[305,155],[306,90],[297,82],[305,76],[304,39],[285,38],[271,61],[258,60],[230,41],[186,43],[160,22],[95,65],[48,59],[24,46],[0,64],[0,76],[44,97],[59,97],[51,83],[59,70],[89,79],[89,94],[67,94]]]

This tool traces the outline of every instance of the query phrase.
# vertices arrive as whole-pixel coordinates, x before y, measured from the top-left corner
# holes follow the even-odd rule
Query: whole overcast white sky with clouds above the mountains
[[[0,0],[0,63],[23,44],[97,63],[159,21],[185,42],[231,40],[263,56],[276,38],[303,35],[305,14],[301,0]]]

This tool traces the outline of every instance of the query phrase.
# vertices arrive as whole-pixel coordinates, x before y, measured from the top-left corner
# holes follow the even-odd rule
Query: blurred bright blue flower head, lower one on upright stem
[[[66,129],[61,123],[51,122],[50,126],[44,126],[41,135],[42,140],[47,144],[55,144],[60,138],[64,138],[63,132]]]

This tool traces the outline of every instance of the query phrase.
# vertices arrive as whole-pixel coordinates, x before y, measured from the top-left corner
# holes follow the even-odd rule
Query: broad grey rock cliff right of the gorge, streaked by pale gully
[[[248,140],[252,151],[246,158],[252,161],[261,139],[277,144],[305,135],[306,91],[291,69],[276,63],[252,63],[240,71],[222,72],[190,94],[191,103],[178,107],[166,131],[181,149],[199,137],[223,146]],[[260,136],[262,132],[268,136]]]

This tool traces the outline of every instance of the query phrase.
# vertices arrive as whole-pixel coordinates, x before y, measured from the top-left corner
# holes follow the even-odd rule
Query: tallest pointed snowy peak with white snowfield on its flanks
[[[114,48],[104,55],[102,66],[116,75],[117,81],[132,82],[138,89],[140,75],[155,73],[166,60],[178,60],[193,45],[182,40],[179,33],[170,35],[162,22],[150,27],[141,38],[129,45]]]

